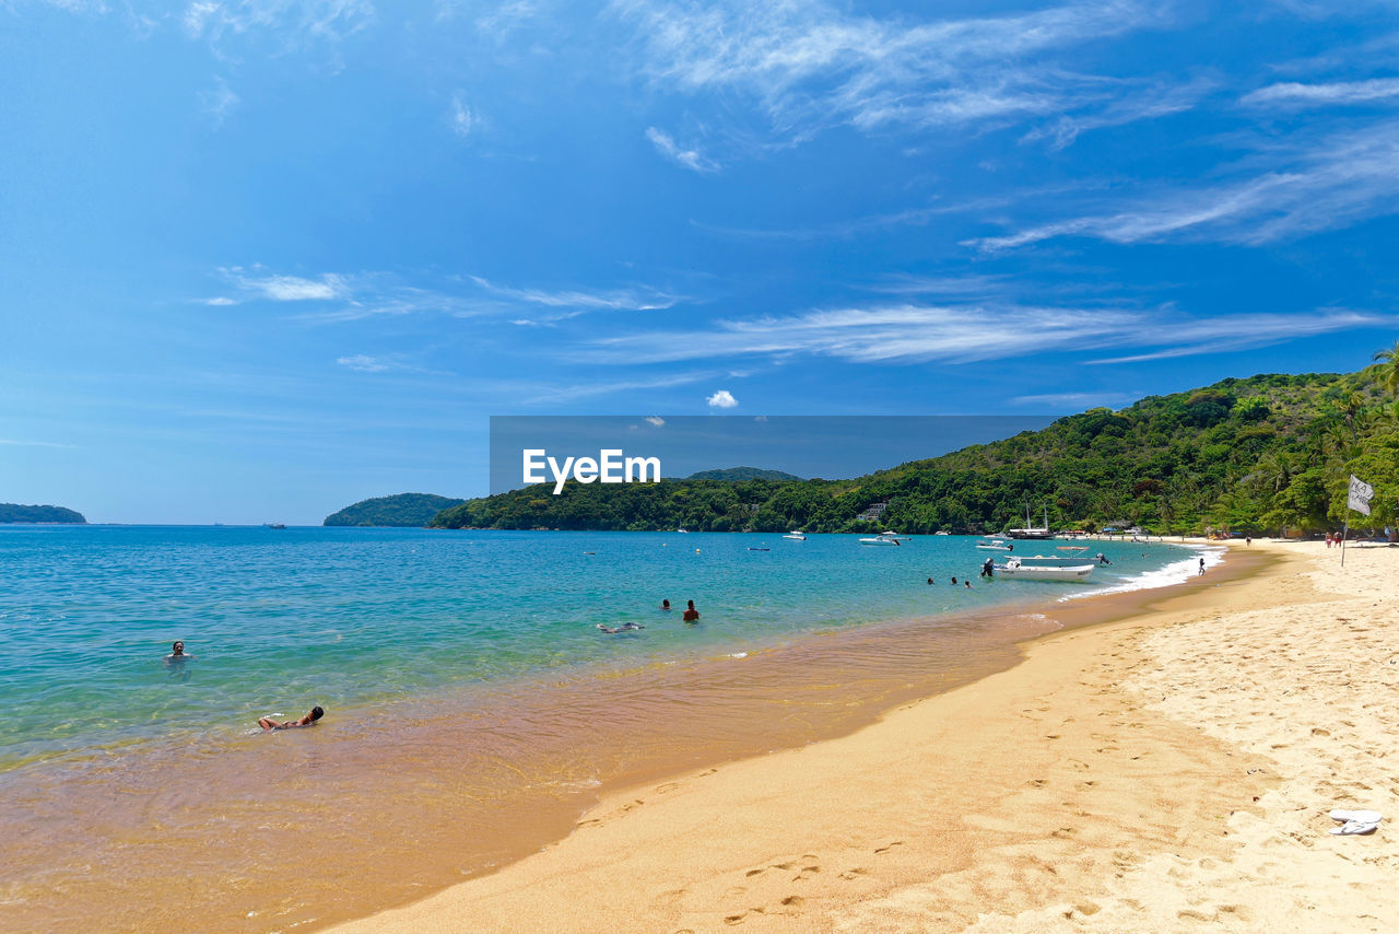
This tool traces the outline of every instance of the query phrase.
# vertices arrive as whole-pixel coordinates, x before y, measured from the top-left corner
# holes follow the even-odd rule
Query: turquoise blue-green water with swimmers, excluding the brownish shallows
[[[1093,584],[986,583],[975,574],[992,553],[974,545],[963,536],[870,548],[837,535],[0,528],[0,769],[112,744],[241,734],[259,716],[299,716],[315,703],[343,717],[469,685],[547,683],[818,630],[1167,583],[1196,560],[1160,543],[1091,542],[1090,555],[1114,562]],[[953,576],[971,576],[974,588],[951,587]],[[676,609],[659,611],[662,598]],[[687,599],[702,612],[697,626],[680,620]],[[645,629],[596,629],[624,622]],[[168,665],[176,639],[193,658]]]

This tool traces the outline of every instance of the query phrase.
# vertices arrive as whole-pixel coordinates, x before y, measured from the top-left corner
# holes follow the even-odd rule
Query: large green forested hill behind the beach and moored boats
[[[1393,368],[1224,379],[1119,412],[1090,409],[1039,431],[853,480],[571,482],[561,496],[534,486],[469,500],[432,524],[986,532],[1021,525],[1027,506],[1038,520],[1048,506],[1053,528],[1258,534],[1339,527],[1356,473],[1375,487],[1370,522],[1378,528],[1395,522],[1399,499]],[[859,518],[880,503],[887,503],[881,515]]]

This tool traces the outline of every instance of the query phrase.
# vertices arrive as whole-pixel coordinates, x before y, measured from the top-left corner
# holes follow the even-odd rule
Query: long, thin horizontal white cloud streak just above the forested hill
[[[895,304],[719,321],[708,329],[686,332],[646,330],[611,336],[596,340],[583,356],[600,363],[635,364],[743,356],[778,360],[817,356],[867,364],[912,364],[978,363],[1049,351],[1150,349],[1133,357],[1093,361],[1121,363],[1149,356],[1259,347],[1396,321],[1395,316],[1340,309],[1193,318],[1171,308]]]

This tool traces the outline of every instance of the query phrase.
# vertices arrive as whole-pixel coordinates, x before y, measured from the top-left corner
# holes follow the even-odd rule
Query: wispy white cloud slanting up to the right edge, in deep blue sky
[[[1116,244],[1198,239],[1262,245],[1336,230],[1399,210],[1399,122],[1293,144],[1270,144],[1241,168],[1266,171],[1174,190],[1125,210],[964,241],[986,252],[1056,237]],[[1237,169],[1235,169],[1237,171]]]

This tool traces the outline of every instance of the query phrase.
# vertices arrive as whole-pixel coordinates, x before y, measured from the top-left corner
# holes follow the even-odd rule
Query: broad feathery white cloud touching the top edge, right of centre
[[[638,27],[655,80],[747,95],[795,136],[838,123],[935,127],[1059,112],[1086,80],[1037,57],[1165,20],[1130,0],[925,22],[818,0],[614,0],[611,10]]]

